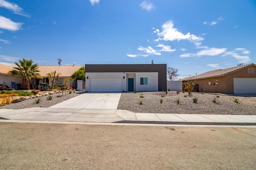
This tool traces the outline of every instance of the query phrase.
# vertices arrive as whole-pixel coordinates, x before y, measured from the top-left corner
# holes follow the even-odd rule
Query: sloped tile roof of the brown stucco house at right
[[[204,78],[210,78],[210,77],[225,76],[226,74],[230,74],[232,72],[242,70],[242,69],[247,68],[249,66],[256,66],[256,64],[251,63],[251,64],[236,66],[236,67],[232,67],[232,68],[225,68],[225,69],[218,69],[218,70],[208,71],[208,72],[205,72],[203,74],[183,78],[181,80],[196,80],[196,79],[204,79]]]

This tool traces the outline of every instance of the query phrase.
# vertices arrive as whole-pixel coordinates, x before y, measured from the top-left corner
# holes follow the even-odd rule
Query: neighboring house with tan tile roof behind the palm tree
[[[55,85],[61,85],[65,82],[68,78],[74,74],[77,70],[79,70],[83,65],[48,65],[48,66],[38,66],[39,74],[42,76],[43,79],[35,79],[33,78],[32,81],[35,86],[38,86],[41,82],[49,83],[51,86],[51,82],[49,82],[48,77],[46,76],[49,72],[54,72],[56,70],[57,73],[60,72],[60,76],[57,79]],[[13,76],[9,73],[10,70],[13,69],[13,66],[8,66],[4,64],[0,64],[0,84],[11,84],[11,82],[20,83],[22,77],[20,76]]]

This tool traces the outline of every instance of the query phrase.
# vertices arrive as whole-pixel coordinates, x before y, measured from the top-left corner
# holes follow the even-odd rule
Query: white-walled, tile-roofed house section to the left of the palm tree
[[[0,64],[0,84],[5,84],[10,86],[11,82],[20,83],[22,80],[21,76],[12,76],[9,70],[12,70],[13,66],[8,66],[5,64]]]

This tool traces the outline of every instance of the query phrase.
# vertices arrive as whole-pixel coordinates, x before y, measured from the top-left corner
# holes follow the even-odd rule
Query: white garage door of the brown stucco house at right
[[[256,78],[234,78],[234,94],[256,94]]]

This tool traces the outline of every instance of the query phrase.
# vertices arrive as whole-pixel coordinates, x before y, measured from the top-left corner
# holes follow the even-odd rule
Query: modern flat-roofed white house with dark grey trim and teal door
[[[166,64],[86,64],[88,92],[166,90]]]

